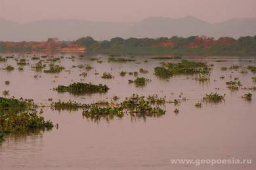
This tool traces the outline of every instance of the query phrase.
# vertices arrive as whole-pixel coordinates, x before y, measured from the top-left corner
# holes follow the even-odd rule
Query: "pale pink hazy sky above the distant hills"
[[[0,0],[0,18],[134,22],[149,16],[195,16],[207,22],[256,17],[256,0]]]

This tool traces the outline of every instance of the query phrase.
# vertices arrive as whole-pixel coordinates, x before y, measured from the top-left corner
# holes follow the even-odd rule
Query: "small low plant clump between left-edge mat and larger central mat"
[[[63,102],[59,100],[58,102],[51,103],[51,108],[55,110],[78,110],[78,109],[84,109],[87,107],[88,105],[86,104],[77,103],[71,100],[68,102]]]

